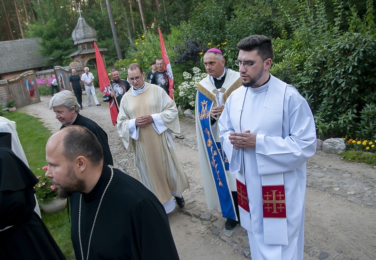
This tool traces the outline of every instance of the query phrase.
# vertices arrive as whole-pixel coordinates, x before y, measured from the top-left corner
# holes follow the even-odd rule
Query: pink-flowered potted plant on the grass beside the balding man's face
[[[42,169],[47,171],[48,166],[44,166]],[[39,182],[35,185],[35,194],[39,199],[39,205],[42,210],[46,213],[56,213],[63,210],[67,205],[67,200],[58,197],[58,191],[51,183],[50,178],[47,178],[44,173],[37,178]]]

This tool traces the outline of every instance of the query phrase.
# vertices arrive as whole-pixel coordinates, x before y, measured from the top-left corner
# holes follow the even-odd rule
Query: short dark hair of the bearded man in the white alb
[[[273,59],[273,45],[272,40],[264,35],[251,35],[236,45],[238,51],[253,51],[256,50],[261,59]]]

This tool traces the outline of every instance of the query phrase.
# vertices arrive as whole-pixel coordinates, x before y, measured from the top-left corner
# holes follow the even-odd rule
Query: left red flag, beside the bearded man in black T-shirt
[[[108,79],[108,75],[106,72],[106,69],[104,68],[102,56],[98,50],[97,44],[94,42],[94,49],[95,49],[95,59],[97,60],[97,72],[98,72],[98,81],[99,81],[99,88],[101,92],[105,95],[110,95],[112,92],[110,80]],[[115,98],[113,98],[110,102],[110,114],[111,114],[111,120],[112,124],[116,124],[116,118],[119,114],[119,111],[117,110]]]

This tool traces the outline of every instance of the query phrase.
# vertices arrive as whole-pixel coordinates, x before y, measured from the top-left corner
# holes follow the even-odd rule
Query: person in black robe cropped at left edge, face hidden
[[[65,259],[34,211],[38,179],[11,149],[11,133],[0,133],[0,259]]]

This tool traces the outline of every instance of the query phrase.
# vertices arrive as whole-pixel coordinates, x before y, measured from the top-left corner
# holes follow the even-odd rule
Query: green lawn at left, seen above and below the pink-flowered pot
[[[16,122],[18,136],[30,169],[34,174],[40,174],[37,169],[46,165],[46,143],[52,133],[40,119],[28,114],[16,111],[5,114],[5,117]],[[46,214],[42,211],[42,219],[67,259],[75,259],[67,209],[56,214]]]

